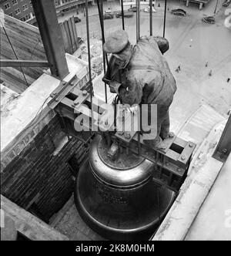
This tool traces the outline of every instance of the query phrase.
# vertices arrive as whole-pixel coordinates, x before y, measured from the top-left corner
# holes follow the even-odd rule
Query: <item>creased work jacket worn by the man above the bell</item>
[[[119,99],[130,106],[152,103],[167,111],[176,92],[176,81],[152,36],[139,39],[126,68],[112,56],[106,76],[122,83]]]

